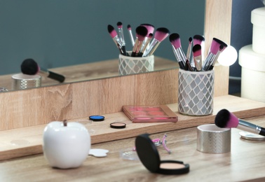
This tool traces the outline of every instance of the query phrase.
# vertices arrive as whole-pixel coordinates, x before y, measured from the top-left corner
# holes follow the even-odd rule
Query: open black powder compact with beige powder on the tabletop
[[[150,172],[158,174],[186,174],[189,165],[177,160],[160,160],[158,150],[149,134],[141,134],[135,139],[135,147],[140,161]]]

